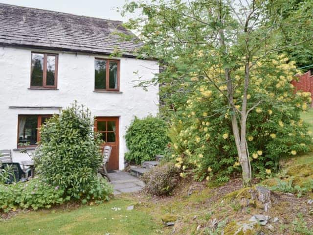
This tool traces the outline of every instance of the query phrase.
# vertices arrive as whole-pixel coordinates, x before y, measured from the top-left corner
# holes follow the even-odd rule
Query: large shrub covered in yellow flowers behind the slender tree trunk
[[[311,137],[300,118],[311,102],[310,93],[294,94],[290,81],[297,71],[294,63],[287,61],[284,55],[272,56],[258,61],[251,71],[247,102],[248,107],[256,107],[247,119],[246,141],[255,176],[264,177],[270,170],[276,170],[283,157],[310,150]],[[231,111],[226,97],[219,91],[224,91],[226,86],[221,82],[218,90],[206,77],[218,77],[220,71],[216,68],[208,68],[205,76],[198,74],[199,70],[194,67],[184,83],[172,81],[163,89],[171,94],[165,97],[165,103],[175,107],[175,112],[163,112],[172,121],[169,131],[172,157],[177,158],[179,168],[184,167],[186,172],[193,169],[199,180],[213,178],[223,183],[241,170]],[[244,67],[238,65],[234,74],[233,95],[240,112],[243,94],[240,77],[244,75]],[[168,75],[171,76],[169,71]]]

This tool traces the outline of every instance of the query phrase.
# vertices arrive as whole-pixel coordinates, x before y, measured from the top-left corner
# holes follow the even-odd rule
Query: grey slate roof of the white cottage
[[[0,3],[0,45],[111,54],[115,47],[133,57],[142,43],[121,21]],[[134,35],[121,42],[113,32]]]

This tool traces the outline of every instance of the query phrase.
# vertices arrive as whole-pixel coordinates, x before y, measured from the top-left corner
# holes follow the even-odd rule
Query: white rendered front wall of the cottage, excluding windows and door
[[[148,80],[158,72],[156,61],[117,58],[120,60],[121,93],[96,93],[93,92],[94,58],[105,56],[53,51],[59,54],[58,90],[30,90],[31,51],[0,47],[0,149],[17,148],[18,115],[59,112],[57,109],[9,109],[9,106],[65,108],[77,100],[89,107],[93,116],[119,117],[119,168],[123,169],[126,127],[134,116],[143,118],[158,112],[158,86],[149,87],[148,92],[134,88],[138,76]],[[136,71],[138,74],[134,74]],[[27,159],[26,154],[13,151],[14,162]]]

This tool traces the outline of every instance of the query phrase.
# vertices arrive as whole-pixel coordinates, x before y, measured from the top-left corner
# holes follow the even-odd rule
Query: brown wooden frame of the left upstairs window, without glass
[[[32,66],[32,59],[33,54],[43,54],[44,55],[44,68],[43,68],[43,86],[32,86],[31,85],[31,66]],[[54,85],[46,85],[47,83],[47,56],[55,56],[55,62],[54,62]],[[31,52],[31,58],[30,58],[30,88],[42,88],[42,89],[56,89],[58,87],[58,63],[59,63],[59,55],[55,53],[46,53],[46,52],[40,52],[40,51],[32,51]]]

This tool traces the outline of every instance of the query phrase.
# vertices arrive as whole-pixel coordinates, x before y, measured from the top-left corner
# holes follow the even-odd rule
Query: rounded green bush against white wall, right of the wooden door
[[[125,154],[126,160],[141,164],[143,161],[153,160],[155,155],[164,153],[168,143],[166,132],[166,123],[161,118],[135,118],[125,135],[129,149]]]

